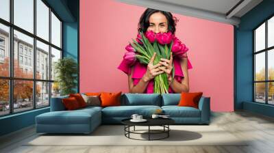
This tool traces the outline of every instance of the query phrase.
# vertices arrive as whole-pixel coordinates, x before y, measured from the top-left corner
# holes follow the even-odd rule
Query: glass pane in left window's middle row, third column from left
[[[49,45],[36,41],[36,79],[49,80]]]

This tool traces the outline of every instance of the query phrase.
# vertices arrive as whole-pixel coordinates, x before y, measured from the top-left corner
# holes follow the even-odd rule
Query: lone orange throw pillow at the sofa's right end
[[[178,106],[179,107],[195,107],[196,109],[198,109],[199,100],[202,95],[203,95],[203,92],[194,92],[194,93],[182,92],[181,100],[179,101]]]

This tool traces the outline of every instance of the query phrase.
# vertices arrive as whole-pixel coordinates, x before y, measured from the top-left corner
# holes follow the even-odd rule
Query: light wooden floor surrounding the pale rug
[[[211,124],[221,126],[239,139],[252,141],[245,146],[25,146],[23,143],[37,137],[34,126],[0,138],[0,152],[274,152],[274,119],[246,111],[212,113]],[[217,138],[216,138],[217,139]]]

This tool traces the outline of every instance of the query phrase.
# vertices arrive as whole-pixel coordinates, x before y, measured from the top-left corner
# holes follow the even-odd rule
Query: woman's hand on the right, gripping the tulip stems
[[[170,59],[160,59],[159,64],[161,64],[162,66],[160,66],[160,70],[166,72],[167,75],[167,79],[169,81],[169,85],[172,83],[172,62],[173,62],[173,56],[172,56],[172,52],[171,52],[171,58]]]

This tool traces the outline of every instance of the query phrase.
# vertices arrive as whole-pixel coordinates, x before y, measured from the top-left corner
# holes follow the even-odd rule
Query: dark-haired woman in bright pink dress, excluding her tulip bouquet
[[[171,31],[175,33],[176,18],[170,12],[154,10],[148,8],[140,17],[138,31],[153,31],[154,33],[165,33]],[[192,68],[187,54],[173,57],[171,59],[161,59],[153,66],[155,53],[151,57],[149,64],[140,64],[138,60],[133,66],[127,64],[125,60],[119,65],[119,69],[128,75],[129,93],[153,93],[154,77],[166,73],[169,80],[169,93],[189,92],[188,69]],[[172,63],[175,68],[175,77],[172,79]]]

